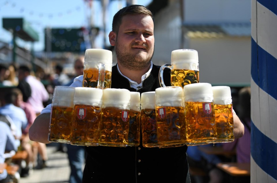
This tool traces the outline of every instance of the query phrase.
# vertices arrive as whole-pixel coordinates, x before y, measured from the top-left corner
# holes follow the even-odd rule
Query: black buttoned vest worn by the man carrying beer
[[[160,87],[160,66],[153,65],[150,75],[144,79],[143,87],[130,87],[117,66],[112,68],[111,88],[122,88],[140,93],[155,91]],[[170,86],[170,70],[164,70],[164,83]],[[187,146],[174,148],[138,147],[86,147],[87,158],[83,183],[90,182],[184,182],[190,183]],[[123,168],[121,168],[123,167]]]

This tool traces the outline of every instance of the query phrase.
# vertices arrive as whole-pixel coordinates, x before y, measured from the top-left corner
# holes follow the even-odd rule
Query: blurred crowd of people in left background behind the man
[[[65,74],[60,64],[53,68],[53,73],[35,73],[31,65],[0,64],[0,164],[18,164],[20,177],[29,176],[32,169],[47,167],[46,144],[31,141],[29,127],[41,110],[51,103],[54,87],[69,86],[76,76],[83,75],[83,67],[83,57],[75,60],[75,73],[71,75]],[[84,148],[59,145],[57,150],[69,153],[74,174],[70,175],[70,182],[81,182]],[[20,151],[27,152],[27,157],[20,162],[13,161],[12,157]],[[15,178],[16,175],[9,175],[6,170],[0,173],[0,183],[10,182]]]

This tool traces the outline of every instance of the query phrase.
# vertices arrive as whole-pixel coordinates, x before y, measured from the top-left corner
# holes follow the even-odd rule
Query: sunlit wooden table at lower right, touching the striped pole
[[[216,167],[231,176],[250,176],[250,163],[218,163]]]

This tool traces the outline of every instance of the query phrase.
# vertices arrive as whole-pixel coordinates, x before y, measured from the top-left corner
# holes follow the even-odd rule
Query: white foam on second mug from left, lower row
[[[103,90],[90,87],[76,87],[74,105],[82,104],[89,106],[101,106]]]

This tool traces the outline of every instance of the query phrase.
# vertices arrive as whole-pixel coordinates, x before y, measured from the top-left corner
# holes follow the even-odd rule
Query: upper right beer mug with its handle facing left
[[[191,83],[199,83],[198,52],[194,49],[177,49],[171,52],[171,64],[164,64],[160,68],[161,87],[165,87],[164,68],[171,70],[171,86],[184,87]]]

